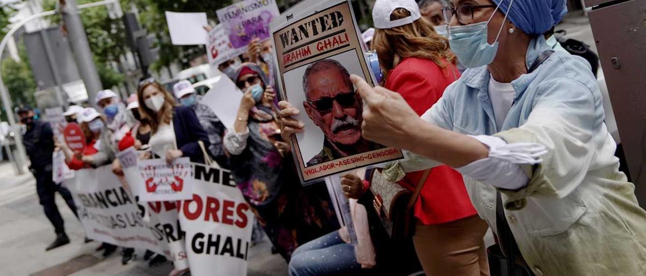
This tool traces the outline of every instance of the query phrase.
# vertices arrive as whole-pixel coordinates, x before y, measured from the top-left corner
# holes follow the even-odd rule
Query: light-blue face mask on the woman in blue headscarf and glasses
[[[503,31],[503,26],[505,26],[507,15],[513,3],[514,0],[509,3],[505,19],[503,19],[503,24],[500,26],[500,30],[498,30],[494,44],[487,42],[487,25],[494,18],[495,12],[497,12],[500,6],[495,8],[494,13],[486,22],[464,26],[448,26],[451,50],[466,68],[477,68],[494,61],[495,54],[498,52],[498,38]]]

